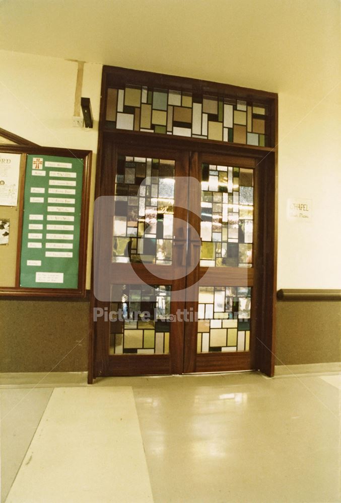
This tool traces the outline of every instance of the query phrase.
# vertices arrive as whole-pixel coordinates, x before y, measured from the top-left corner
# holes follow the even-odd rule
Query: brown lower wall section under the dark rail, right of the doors
[[[275,365],[341,361],[341,302],[278,301]]]

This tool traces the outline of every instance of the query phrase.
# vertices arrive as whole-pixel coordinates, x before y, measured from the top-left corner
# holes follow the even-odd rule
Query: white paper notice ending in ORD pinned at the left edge
[[[0,206],[17,206],[20,157],[0,152]]]

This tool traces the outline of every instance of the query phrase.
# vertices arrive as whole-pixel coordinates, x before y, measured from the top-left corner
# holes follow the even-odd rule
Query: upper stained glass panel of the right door
[[[251,267],[253,170],[202,163],[200,266]]]

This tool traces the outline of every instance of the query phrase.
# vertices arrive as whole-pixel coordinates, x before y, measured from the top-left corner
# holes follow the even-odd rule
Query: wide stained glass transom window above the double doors
[[[132,85],[107,94],[106,125],[113,129],[265,146],[267,117],[263,104],[223,96]]]

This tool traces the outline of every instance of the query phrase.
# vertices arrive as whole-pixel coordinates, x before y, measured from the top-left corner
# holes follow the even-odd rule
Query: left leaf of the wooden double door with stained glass
[[[107,295],[96,301],[97,375],[179,374],[183,371],[188,153],[157,148],[106,149],[102,194],[113,205],[106,232]],[[112,202],[111,202],[112,200]],[[104,212],[103,212],[104,215]],[[105,217],[103,217],[105,218]],[[105,234],[105,237],[104,237]],[[102,244],[101,244],[102,243]]]

